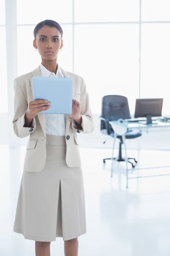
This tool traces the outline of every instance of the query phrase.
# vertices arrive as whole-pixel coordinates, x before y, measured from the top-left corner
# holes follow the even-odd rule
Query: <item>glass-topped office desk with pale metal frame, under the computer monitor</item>
[[[118,124],[117,121],[111,121],[109,122],[110,124],[115,123]],[[170,128],[170,122],[160,122],[157,121],[157,124],[140,124],[139,122],[126,122],[127,124],[127,129],[139,129],[139,130],[148,130],[149,128]],[[141,169],[136,169],[136,170],[142,170],[142,169],[158,169],[158,168],[169,168],[170,166],[159,166],[159,167],[149,167],[149,168],[141,168]],[[127,188],[128,188],[128,179],[137,179],[137,178],[144,178],[144,177],[158,177],[158,176],[167,176],[169,174],[164,174],[164,175],[151,175],[151,176],[136,176],[136,177],[128,177],[128,170],[132,169],[127,169],[126,172],[126,178],[127,178]]]

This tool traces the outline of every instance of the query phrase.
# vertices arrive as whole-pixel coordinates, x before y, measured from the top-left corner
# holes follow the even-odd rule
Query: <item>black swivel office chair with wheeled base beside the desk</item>
[[[110,121],[116,121],[118,119],[129,119],[130,116],[130,110],[129,110],[129,104],[128,100],[125,96],[120,95],[106,95],[102,97],[102,114],[100,116],[101,122],[100,122],[100,130],[102,134],[109,135],[114,138],[114,131],[111,125],[109,124]],[[125,134],[126,139],[134,139],[137,137],[142,136],[142,132],[138,129],[127,129],[127,132]],[[114,157],[114,160],[117,160],[118,162],[125,162],[125,158],[122,157],[122,136],[117,136],[117,138],[120,140],[119,142],[119,155],[118,157]],[[105,143],[106,140],[103,142]],[[111,160],[112,158],[105,158],[103,159],[103,163],[106,162],[106,160]],[[135,163],[137,163],[135,158],[127,157],[128,163],[132,165],[132,167],[135,167],[135,164],[132,163],[130,160],[134,160]]]

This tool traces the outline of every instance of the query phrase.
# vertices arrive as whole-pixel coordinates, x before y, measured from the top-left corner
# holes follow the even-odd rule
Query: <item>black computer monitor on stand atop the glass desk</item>
[[[156,123],[152,120],[152,116],[162,115],[163,99],[136,99],[134,118],[146,117],[143,124]]]

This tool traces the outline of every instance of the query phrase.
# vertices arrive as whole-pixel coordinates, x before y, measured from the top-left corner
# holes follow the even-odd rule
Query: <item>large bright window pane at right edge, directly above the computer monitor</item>
[[[142,25],[141,97],[164,98],[170,113],[170,24]]]

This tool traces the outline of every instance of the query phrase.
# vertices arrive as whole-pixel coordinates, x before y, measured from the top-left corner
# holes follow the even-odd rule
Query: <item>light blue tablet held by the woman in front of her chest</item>
[[[33,97],[51,102],[51,108],[40,113],[72,113],[72,79],[58,77],[33,77]]]

